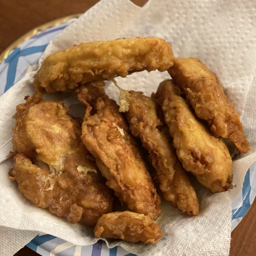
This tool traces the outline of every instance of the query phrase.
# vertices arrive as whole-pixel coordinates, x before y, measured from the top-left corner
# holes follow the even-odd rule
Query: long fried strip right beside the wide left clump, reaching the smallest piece
[[[81,138],[106,184],[129,209],[156,219],[161,212],[160,196],[118,105],[102,88],[88,85],[76,92],[86,107]]]

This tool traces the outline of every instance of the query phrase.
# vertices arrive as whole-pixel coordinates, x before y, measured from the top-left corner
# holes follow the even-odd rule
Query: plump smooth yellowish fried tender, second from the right
[[[154,99],[161,104],[173,145],[186,171],[212,192],[232,188],[232,159],[222,139],[213,137],[191,112],[180,89],[163,81]]]

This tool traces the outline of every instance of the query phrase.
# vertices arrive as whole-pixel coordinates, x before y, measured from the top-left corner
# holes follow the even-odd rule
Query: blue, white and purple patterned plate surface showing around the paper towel
[[[50,40],[70,23],[44,30],[20,44],[9,54],[8,58],[0,64],[0,96],[22,79],[27,72],[37,69],[38,59]],[[256,162],[248,169],[243,188],[232,202],[232,230],[244,217],[255,196]],[[93,245],[80,246],[51,235],[36,236],[27,246],[42,256],[135,256],[119,246],[109,249],[102,240]]]

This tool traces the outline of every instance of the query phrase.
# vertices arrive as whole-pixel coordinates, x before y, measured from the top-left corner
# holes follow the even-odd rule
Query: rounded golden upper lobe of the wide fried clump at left
[[[56,174],[62,172],[66,155],[81,144],[79,122],[67,114],[63,102],[44,100],[40,94],[17,105],[16,111],[14,151],[47,163]]]

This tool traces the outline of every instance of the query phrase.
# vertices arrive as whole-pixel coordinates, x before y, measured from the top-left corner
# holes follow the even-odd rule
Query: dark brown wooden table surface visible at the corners
[[[146,0],[132,0],[143,6]],[[0,53],[29,30],[48,21],[85,12],[98,0],[0,0]],[[256,201],[231,233],[230,256],[256,255]],[[15,243],[15,241],[13,241]],[[15,256],[39,255],[24,247]]]

